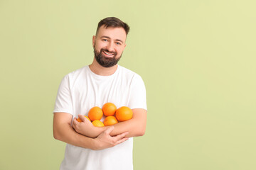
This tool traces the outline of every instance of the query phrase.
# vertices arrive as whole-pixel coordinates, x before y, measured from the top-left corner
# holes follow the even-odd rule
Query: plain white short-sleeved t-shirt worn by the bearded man
[[[88,115],[90,108],[114,103],[117,108],[144,108],[146,89],[142,77],[118,65],[110,76],[93,73],[88,66],[66,75],[58,89],[53,113]],[[104,117],[102,118],[102,121]],[[65,157],[60,169],[81,170],[131,170],[133,139],[102,150],[85,149],[66,145]]]

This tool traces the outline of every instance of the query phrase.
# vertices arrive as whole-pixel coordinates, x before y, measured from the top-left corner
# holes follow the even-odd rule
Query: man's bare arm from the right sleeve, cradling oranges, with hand
[[[111,136],[116,136],[123,132],[129,132],[126,137],[143,136],[146,131],[146,110],[142,108],[132,109],[133,117],[131,120],[119,122],[114,126],[114,130],[110,133]],[[79,115],[82,123],[78,123],[76,119],[73,121],[73,128],[82,135],[88,137],[97,137],[109,127],[94,127],[89,120],[84,116]]]

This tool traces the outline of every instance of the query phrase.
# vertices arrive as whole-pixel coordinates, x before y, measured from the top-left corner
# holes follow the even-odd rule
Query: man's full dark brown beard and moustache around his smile
[[[120,55],[120,57],[117,58],[117,52],[111,52],[114,54],[113,57],[105,57],[103,54],[103,51],[106,52],[110,52],[109,50],[104,50],[104,49],[100,49],[100,52],[97,52],[97,50],[95,50],[95,47],[93,47],[93,51],[95,54],[95,59],[96,61],[102,66],[102,67],[112,67],[114,65],[117,64],[117,62],[120,60],[120,58],[122,57],[122,54]]]

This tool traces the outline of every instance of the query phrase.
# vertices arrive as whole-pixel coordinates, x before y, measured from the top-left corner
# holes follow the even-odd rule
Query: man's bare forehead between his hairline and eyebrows
[[[113,28],[113,27],[108,27],[106,28],[105,26],[101,26],[99,30],[97,31],[97,37],[109,37],[113,40],[122,40],[123,42],[126,40],[127,35],[125,33],[124,28]]]

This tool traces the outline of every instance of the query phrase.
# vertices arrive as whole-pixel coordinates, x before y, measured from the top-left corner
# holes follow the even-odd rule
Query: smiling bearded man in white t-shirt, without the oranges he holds
[[[53,136],[67,143],[60,169],[133,169],[132,137],[146,130],[146,90],[138,74],[117,64],[128,32],[127,23],[118,18],[100,21],[92,37],[92,64],[61,81],[53,111]],[[98,128],[83,116],[107,102],[132,108],[133,118]]]

